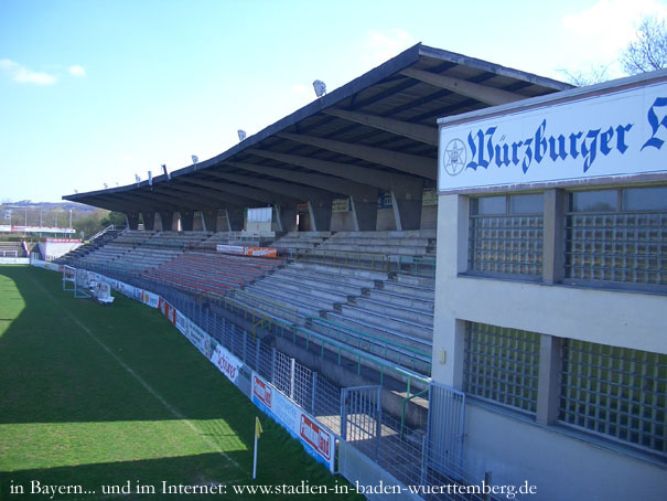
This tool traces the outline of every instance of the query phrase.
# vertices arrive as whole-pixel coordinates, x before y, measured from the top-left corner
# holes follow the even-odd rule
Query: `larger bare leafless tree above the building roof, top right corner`
[[[637,30],[637,39],[631,42],[623,52],[621,64],[628,75],[667,67],[665,21],[659,21],[655,17],[644,18]]]

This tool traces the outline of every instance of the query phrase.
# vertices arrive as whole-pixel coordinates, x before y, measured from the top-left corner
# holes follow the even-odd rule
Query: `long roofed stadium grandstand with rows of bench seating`
[[[467,392],[433,377],[462,356],[434,341],[438,235],[467,227],[439,211],[437,120],[570,88],[418,44],[217,157],[64,196],[128,227],[57,263],[169,301],[249,367],[241,391],[256,372],[318,418],[351,481],[476,483]]]

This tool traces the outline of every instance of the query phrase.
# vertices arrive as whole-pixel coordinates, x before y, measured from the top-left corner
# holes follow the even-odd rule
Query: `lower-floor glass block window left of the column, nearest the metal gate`
[[[467,322],[463,391],[535,413],[540,334]]]

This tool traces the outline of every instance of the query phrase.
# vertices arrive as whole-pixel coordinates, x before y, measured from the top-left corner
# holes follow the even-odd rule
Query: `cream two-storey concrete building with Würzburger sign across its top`
[[[545,500],[667,492],[667,71],[440,124],[433,380],[465,467]]]

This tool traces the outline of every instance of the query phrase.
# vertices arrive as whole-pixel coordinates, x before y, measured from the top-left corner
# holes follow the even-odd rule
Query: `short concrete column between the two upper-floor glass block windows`
[[[558,284],[566,268],[566,192],[545,191],[542,280]]]

